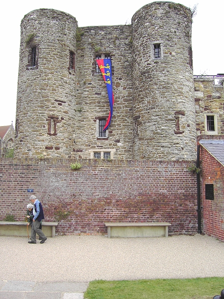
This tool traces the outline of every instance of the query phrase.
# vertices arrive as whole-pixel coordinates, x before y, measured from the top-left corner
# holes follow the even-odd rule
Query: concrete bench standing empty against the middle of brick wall
[[[108,238],[168,237],[167,222],[105,222]]]

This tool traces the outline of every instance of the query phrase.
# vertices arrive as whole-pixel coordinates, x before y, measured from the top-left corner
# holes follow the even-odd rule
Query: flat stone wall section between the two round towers
[[[114,150],[113,158],[132,158],[131,26],[81,27],[77,47],[75,144],[72,156],[89,158],[91,150]],[[114,106],[108,139],[97,138],[97,120],[108,118],[110,105],[96,55],[110,54]]]

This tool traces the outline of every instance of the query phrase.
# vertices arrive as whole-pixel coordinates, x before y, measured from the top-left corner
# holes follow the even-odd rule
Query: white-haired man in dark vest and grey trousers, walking
[[[32,203],[34,203],[33,206],[33,225],[31,228],[31,241],[28,241],[30,244],[36,244],[36,233],[39,236],[39,239],[41,240],[40,243],[43,244],[47,238],[40,229],[40,222],[42,219],[44,219],[44,213],[43,213],[43,207],[41,202],[36,198],[35,195],[30,196],[30,200]]]

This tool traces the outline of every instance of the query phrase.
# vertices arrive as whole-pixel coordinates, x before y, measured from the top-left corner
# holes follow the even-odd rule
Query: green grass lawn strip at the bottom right
[[[85,299],[212,299],[224,289],[224,277],[93,281]]]

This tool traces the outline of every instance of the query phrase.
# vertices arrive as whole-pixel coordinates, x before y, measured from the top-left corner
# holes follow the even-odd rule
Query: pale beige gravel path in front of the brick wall
[[[57,236],[44,244],[0,236],[0,280],[90,282],[224,277],[224,242],[202,235],[168,238]]]

